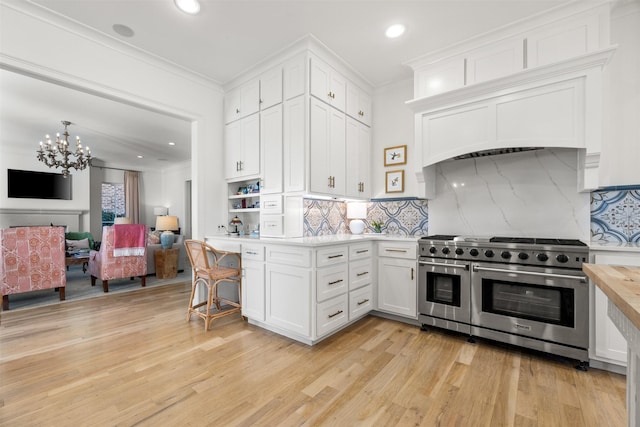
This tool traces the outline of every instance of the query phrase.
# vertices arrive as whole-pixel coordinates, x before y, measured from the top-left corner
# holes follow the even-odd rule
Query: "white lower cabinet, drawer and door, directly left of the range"
[[[378,310],[417,318],[415,243],[378,245]],[[383,254],[391,256],[383,256]],[[405,258],[406,257],[406,258]]]

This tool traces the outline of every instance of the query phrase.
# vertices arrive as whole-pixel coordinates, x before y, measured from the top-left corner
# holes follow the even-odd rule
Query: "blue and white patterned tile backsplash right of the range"
[[[591,241],[640,242],[640,186],[591,193]]]

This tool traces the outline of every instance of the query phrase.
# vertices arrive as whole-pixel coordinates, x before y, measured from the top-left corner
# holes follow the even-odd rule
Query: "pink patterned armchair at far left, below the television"
[[[9,295],[54,288],[64,301],[67,284],[63,227],[17,227],[0,230],[2,309]]]

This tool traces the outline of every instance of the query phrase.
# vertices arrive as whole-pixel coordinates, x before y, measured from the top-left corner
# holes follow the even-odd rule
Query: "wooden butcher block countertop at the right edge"
[[[582,270],[640,329],[640,267],[583,264]]]

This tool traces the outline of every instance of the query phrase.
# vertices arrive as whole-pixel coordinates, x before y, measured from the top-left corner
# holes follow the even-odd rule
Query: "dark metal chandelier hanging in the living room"
[[[69,176],[69,168],[82,170],[87,166],[91,166],[91,150],[89,150],[89,147],[83,148],[80,137],[76,136],[76,150],[75,152],[69,151],[69,132],[67,127],[72,123],[63,120],[62,124],[64,125],[63,139],[60,139],[60,134],[57,133],[55,142],[52,142],[49,135],[46,135],[47,143],[43,144],[40,141],[40,148],[37,152],[38,160],[50,168],[61,168],[62,176],[66,178]],[[75,160],[73,160],[74,157]]]

